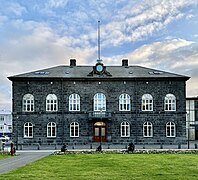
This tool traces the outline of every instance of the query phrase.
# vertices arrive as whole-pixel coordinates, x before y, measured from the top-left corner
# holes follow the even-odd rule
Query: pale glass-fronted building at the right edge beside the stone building
[[[198,96],[186,98],[186,134],[188,140],[198,140]]]

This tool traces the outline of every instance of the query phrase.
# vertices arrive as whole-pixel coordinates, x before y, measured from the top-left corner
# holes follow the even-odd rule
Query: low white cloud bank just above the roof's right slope
[[[135,51],[105,58],[107,64],[121,64],[121,59],[129,59],[130,65],[140,65],[168,72],[190,76],[187,81],[187,96],[197,96],[198,46],[185,39],[167,39],[143,45]]]

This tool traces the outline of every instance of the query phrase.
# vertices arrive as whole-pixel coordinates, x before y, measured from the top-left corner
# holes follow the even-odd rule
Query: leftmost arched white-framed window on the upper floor
[[[32,94],[25,94],[23,96],[23,111],[34,111],[34,96]]]

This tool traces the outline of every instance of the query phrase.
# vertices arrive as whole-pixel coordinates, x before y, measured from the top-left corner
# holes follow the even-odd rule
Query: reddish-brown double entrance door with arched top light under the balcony
[[[94,124],[93,141],[106,142],[106,124],[104,122]]]

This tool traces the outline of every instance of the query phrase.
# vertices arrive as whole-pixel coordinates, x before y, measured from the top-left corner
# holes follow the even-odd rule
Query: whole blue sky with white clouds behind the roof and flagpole
[[[0,0],[0,109],[11,109],[8,76],[94,65],[98,20],[105,65],[187,75],[187,96],[198,95],[198,0]]]

